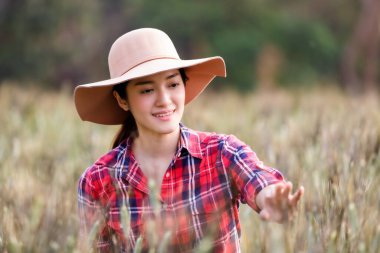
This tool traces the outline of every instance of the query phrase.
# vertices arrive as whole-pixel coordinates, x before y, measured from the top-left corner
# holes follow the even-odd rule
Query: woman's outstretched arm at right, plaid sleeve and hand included
[[[265,166],[249,146],[229,136],[222,151],[223,164],[239,192],[240,201],[248,203],[263,220],[285,222],[295,215],[304,188],[294,194],[277,169]]]

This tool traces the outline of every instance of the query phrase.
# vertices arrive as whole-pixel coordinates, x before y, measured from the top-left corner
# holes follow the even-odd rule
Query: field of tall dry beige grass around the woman
[[[184,123],[236,135],[305,187],[286,225],[241,206],[243,252],[380,252],[379,97],[207,91]],[[0,252],[77,251],[77,180],[116,130],[81,122],[69,89],[0,86]]]

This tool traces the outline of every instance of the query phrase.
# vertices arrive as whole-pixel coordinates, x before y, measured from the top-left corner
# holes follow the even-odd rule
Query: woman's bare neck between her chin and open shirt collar
[[[140,134],[133,142],[135,151],[149,157],[173,155],[178,145],[180,128],[169,134],[150,135]]]

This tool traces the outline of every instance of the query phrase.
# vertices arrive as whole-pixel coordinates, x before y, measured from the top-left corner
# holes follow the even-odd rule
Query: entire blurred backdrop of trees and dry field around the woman
[[[78,179],[118,126],[82,122],[72,91],[108,79],[112,43],[141,27],[183,59],[226,60],[187,126],[236,135],[306,189],[286,225],[241,205],[242,252],[380,252],[379,13],[379,0],[0,0],[0,252],[80,252]]]

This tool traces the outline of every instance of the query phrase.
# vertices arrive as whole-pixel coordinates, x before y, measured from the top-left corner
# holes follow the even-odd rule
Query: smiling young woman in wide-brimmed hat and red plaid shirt
[[[101,252],[240,252],[239,203],[263,220],[295,214],[300,187],[264,166],[232,135],[194,131],[184,107],[215,76],[221,57],[181,60],[162,31],[126,33],[109,53],[111,78],[75,89],[82,120],[121,124],[113,149],[81,176],[82,242]],[[86,243],[85,243],[86,244]]]

